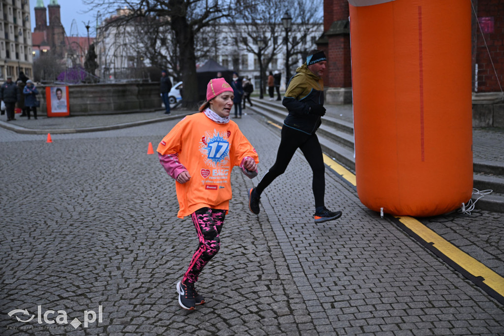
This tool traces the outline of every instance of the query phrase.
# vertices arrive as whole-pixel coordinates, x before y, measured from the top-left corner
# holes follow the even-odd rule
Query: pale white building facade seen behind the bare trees
[[[114,81],[125,79],[129,74],[135,73],[134,69],[139,67],[150,67],[152,62],[146,53],[141,50],[143,48],[144,39],[139,36],[139,32],[143,30],[139,25],[142,22],[130,21],[128,25],[115,24],[121,16],[127,15],[128,10],[118,9],[115,16],[105,19],[101,26],[98,27],[96,37],[96,49],[98,55],[98,64],[100,69],[100,77],[104,80]],[[295,69],[301,66],[304,62],[302,53],[306,54],[309,50],[317,47],[316,40],[322,35],[323,25],[312,24],[308,29],[310,33],[306,36],[306,29],[301,30],[293,24],[293,29],[289,34],[289,45],[296,44],[296,50],[291,50],[290,56],[290,74],[294,75]],[[176,58],[176,50],[173,50],[173,43],[170,38],[169,25],[163,27],[164,31],[158,33],[163,36],[156,42],[156,49],[165,55],[167,59]],[[237,31],[241,31],[240,27],[232,27],[229,24],[213,24],[205,27],[199,32],[196,37],[195,52],[197,58],[197,67],[202,66],[209,59],[215,60],[221,66],[231,71],[237,72],[240,77],[248,77],[253,80],[255,88],[259,89],[260,83],[260,62],[258,54],[250,49],[257,50],[257,42],[243,36],[237,36]],[[301,33],[303,31],[304,33]],[[263,63],[263,80],[266,81],[270,71],[279,71],[282,73],[281,89],[285,88],[285,62],[286,62],[286,45],[284,38],[284,28],[281,24],[278,25],[278,31],[275,36],[265,34],[264,39],[266,45],[272,45],[268,42],[269,39],[276,39],[276,49],[267,47],[262,53]],[[152,41],[150,41],[152,42]],[[280,43],[278,43],[280,42]],[[151,43],[149,43],[151,45]],[[248,49],[248,50],[247,50]],[[270,62],[267,62],[270,60]],[[159,64],[159,63],[158,63]],[[169,64],[163,65],[169,72],[174,73]],[[217,75],[217,74],[216,74]]]

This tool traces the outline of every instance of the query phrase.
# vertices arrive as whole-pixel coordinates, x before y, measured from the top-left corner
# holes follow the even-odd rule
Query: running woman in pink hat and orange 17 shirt
[[[177,283],[178,303],[184,309],[192,310],[205,302],[195,284],[220,248],[233,166],[239,165],[249,178],[257,176],[258,154],[238,125],[229,120],[233,97],[233,89],[224,78],[210,80],[200,113],[182,119],[157,148],[161,164],[176,181],[177,216],[191,215],[200,242]]]

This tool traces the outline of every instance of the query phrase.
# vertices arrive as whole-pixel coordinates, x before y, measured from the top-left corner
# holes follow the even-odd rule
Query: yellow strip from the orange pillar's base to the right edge
[[[432,243],[439,252],[446,255],[460,267],[464,268],[474,276],[483,277],[485,279],[483,283],[486,286],[493,289],[499,295],[504,296],[504,278],[502,276],[495,273],[459,248],[453,246],[450,242],[424,226],[415,218],[407,216],[396,218],[399,218],[400,222],[402,222],[407,228],[417,234],[425,242]]]

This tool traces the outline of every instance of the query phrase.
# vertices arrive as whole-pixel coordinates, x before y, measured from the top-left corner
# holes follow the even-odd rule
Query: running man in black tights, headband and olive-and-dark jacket
[[[256,188],[248,191],[248,208],[255,214],[260,212],[261,194],[278,176],[287,169],[295,151],[300,148],[313,172],[312,190],[315,199],[316,223],[337,219],[341,211],[330,211],[324,204],[325,165],[319,138],[315,133],[321,125],[324,107],[324,81],[327,58],[324,51],[311,50],[306,63],[296,69],[285,92],[282,104],[289,114],[284,120],[275,164],[263,176]]]

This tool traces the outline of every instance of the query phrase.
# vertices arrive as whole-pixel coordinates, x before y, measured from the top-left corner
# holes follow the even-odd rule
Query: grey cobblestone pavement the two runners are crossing
[[[254,117],[237,122],[262,176],[280,139]],[[326,205],[344,214],[314,225],[299,153],[263,193],[259,216],[245,192],[258,180],[233,171],[222,248],[198,282],[208,302],[180,309],[174,286],[197,238],[190,219],[176,218],[173,181],[146,154],[175,123],[54,135],[51,144],[0,129],[1,334],[504,334],[501,305],[330,172]],[[9,316],[15,309],[28,313]],[[49,324],[49,310],[49,321],[62,311],[68,323],[97,319]]]

